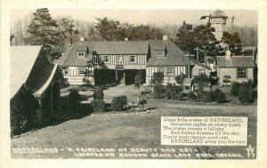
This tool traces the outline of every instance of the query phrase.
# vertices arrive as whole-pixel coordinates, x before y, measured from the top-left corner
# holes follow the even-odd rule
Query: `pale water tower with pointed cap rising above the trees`
[[[226,20],[228,16],[221,10],[215,11],[210,15],[211,27],[215,29],[214,36],[216,40],[220,41],[223,37],[223,31],[226,29]]]

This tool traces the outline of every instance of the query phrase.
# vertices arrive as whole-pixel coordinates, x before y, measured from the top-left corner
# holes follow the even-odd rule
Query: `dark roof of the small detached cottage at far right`
[[[226,60],[225,56],[218,56],[217,66],[219,68],[235,68],[235,67],[254,68],[255,61],[252,56],[231,56],[231,60]]]

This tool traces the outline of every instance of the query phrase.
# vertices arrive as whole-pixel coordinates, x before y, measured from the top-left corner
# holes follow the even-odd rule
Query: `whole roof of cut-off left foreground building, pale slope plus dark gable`
[[[41,46],[12,46],[10,57],[11,99],[22,85],[40,96],[53,79],[61,78],[61,70],[42,55]]]

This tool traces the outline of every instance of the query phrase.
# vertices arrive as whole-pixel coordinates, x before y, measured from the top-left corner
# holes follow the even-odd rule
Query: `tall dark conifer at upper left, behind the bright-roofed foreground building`
[[[49,53],[49,60],[61,56],[60,45],[66,35],[57,29],[58,24],[50,16],[47,8],[37,9],[33,20],[28,25],[29,36],[24,38],[26,44],[43,45],[44,52]]]

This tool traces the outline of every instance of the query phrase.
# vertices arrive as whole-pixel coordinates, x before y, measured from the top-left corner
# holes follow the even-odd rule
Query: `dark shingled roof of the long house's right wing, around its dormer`
[[[163,47],[164,46],[164,47]],[[166,50],[165,58],[157,58],[157,50]],[[182,50],[170,40],[150,40],[150,59],[148,66],[187,65],[188,58]]]

